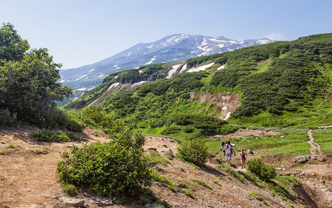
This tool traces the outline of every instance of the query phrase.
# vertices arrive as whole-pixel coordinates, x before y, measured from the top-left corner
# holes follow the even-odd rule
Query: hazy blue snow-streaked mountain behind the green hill
[[[161,62],[177,62],[269,42],[272,42],[272,40],[268,38],[237,41],[222,36],[169,35],[156,42],[137,44],[94,64],[76,69],[61,69],[60,83],[76,90],[89,90],[100,85],[103,78],[116,71]]]

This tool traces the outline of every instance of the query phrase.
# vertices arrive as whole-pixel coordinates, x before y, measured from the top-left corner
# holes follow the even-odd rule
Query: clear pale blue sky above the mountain
[[[0,23],[69,69],[175,33],[233,40],[331,33],[331,8],[331,0],[0,0]]]

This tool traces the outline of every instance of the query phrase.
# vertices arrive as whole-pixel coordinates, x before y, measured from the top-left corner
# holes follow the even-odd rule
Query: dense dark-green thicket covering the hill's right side
[[[276,42],[222,55],[227,67],[215,73],[211,85],[238,88],[243,93],[234,117],[262,110],[280,115],[312,107],[316,98],[324,97],[322,89],[331,86],[331,77],[324,76],[331,69],[331,36],[315,35],[308,37],[311,42]],[[259,71],[261,60],[270,61]]]

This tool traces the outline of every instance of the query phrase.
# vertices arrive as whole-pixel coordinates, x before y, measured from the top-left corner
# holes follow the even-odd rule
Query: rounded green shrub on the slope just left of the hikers
[[[177,147],[177,157],[197,166],[203,166],[209,157],[209,151],[201,139],[184,141]]]

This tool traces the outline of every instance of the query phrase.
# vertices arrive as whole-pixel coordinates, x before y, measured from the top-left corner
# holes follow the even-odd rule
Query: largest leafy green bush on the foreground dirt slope
[[[144,137],[128,126],[116,126],[111,141],[73,146],[62,153],[57,173],[64,184],[91,189],[98,195],[118,196],[137,193],[150,184],[148,160],[143,155]]]

